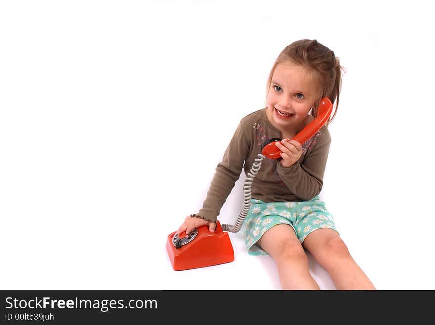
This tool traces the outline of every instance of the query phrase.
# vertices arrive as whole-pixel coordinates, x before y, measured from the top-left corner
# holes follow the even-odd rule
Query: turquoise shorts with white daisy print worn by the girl
[[[335,230],[334,219],[318,196],[306,202],[272,202],[251,200],[251,208],[243,225],[245,244],[250,255],[268,255],[257,241],[278,224],[290,225],[302,243],[306,236],[320,228]]]

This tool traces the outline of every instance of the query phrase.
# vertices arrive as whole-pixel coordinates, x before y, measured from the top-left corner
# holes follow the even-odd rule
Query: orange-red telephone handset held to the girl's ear
[[[325,125],[332,113],[332,103],[328,97],[324,97],[320,101],[317,117],[312,120],[304,129],[301,130],[292,140],[296,140],[301,144],[304,144],[309,138],[315,135],[320,128]],[[261,147],[262,154],[269,159],[281,158],[281,150],[278,149],[275,142],[281,141],[280,138],[270,138]]]

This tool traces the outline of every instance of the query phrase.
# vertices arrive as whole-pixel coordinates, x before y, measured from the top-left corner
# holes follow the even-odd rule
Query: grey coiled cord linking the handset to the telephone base
[[[224,231],[238,232],[240,228],[242,228],[243,221],[245,220],[246,215],[248,214],[249,209],[251,207],[252,181],[254,180],[255,176],[260,170],[263,159],[266,158],[266,156],[263,156],[261,153],[259,153],[257,156],[258,158],[256,158],[255,162],[252,164],[252,167],[246,176],[245,183],[243,184],[244,200],[243,200],[242,210],[240,211],[239,217],[237,218],[237,221],[234,225],[223,224],[222,230]]]

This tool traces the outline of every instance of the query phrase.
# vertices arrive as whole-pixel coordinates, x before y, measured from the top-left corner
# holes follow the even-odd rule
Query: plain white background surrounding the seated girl
[[[165,245],[201,207],[239,120],[263,107],[279,52],[309,38],[346,69],[321,198],[378,289],[434,290],[424,3],[2,1],[0,288],[279,289],[241,232],[219,266],[174,271]]]

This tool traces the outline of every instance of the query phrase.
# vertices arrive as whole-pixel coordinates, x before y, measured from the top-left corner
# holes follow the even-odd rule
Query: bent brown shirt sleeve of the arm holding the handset
[[[331,136],[325,128],[316,143],[308,148],[302,161],[300,159],[290,167],[283,167],[277,162],[281,180],[300,200],[309,201],[322,190],[330,144]]]

